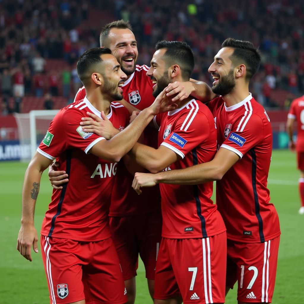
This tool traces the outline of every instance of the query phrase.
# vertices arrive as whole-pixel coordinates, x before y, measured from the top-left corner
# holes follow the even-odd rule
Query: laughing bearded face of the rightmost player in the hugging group
[[[230,47],[220,49],[208,69],[214,80],[211,89],[215,94],[225,96],[235,88],[234,67],[230,59],[233,51]]]

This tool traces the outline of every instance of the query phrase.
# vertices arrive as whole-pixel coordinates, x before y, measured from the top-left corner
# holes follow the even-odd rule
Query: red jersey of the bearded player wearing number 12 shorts
[[[251,94],[226,107],[222,97],[209,102],[217,128],[218,147],[240,160],[216,182],[216,204],[227,227],[227,238],[258,243],[280,235],[275,206],[267,189],[272,130],[264,108]]]

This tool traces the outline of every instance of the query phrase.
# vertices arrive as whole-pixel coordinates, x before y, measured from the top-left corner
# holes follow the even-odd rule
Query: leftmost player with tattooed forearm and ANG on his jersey
[[[117,162],[136,143],[161,110],[174,106],[155,102],[132,125],[110,140],[86,133],[79,122],[95,113],[124,128],[129,112],[112,100],[123,98],[126,80],[111,50],[93,48],[77,63],[86,97],[61,109],[29,163],[22,191],[22,219],[17,250],[32,261],[37,250],[34,209],[43,171],[57,158],[70,181],[54,190],[43,220],[41,248],[51,303],[126,303],[122,271],[112,242],[108,213]],[[164,93],[163,93],[164,94]]]

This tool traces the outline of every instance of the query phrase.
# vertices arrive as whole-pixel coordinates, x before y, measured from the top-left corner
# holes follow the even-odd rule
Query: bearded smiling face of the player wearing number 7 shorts
[[[151,67],[147,71],[147,76],[151,78],[154,84],[152,93],[154,97],[157,97],[170,83],[166,62],[162,59],[165,53],[166,49],[157,50],[151,60]]]

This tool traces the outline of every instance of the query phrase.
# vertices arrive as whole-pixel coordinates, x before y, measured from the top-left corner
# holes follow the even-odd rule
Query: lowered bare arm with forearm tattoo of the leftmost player
[[[26,170],[22,189],[21,228],[17,240],[17,250],[27,260],[32,261],[31,247],[37,253],[37,231],[34,226],[34,211],[43,171],[51,160],[36,152]]]

